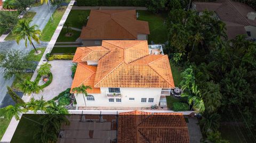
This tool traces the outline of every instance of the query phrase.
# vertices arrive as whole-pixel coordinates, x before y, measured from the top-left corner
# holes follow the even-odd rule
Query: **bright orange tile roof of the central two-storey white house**
[[[98,66],[86,61],[98,61]],[[102,46],[78,47],[73,62],[78,65],[71,88],[84,84],[92,87],[89,93],[99,93],[100,87],[174,88],[168,56],[149,55],[146,40],[103,40]]]

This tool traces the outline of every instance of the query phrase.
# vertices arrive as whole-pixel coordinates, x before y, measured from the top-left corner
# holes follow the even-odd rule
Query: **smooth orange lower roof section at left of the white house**
[[[97,66],[87,65],[86,62],[77,63],[76,73],[71,85],[71,90],[74,87],[78,87],[83,84],[92,88],[87,89],[88,94],[100,94],[100,88],[95,88],[93,85],[96,70]]]

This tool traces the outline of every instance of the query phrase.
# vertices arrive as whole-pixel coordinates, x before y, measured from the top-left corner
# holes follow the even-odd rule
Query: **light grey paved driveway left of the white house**
[[[55,60],[49,62],[52,65],[53,79],[49,86],[44,88],[43,92],[34,95],[35,99],[39,99],[42,96],[45,100],[51,100],[55,96],[58,96],[60,92],[70,88],[73,78],[71,78],[71,60]]]

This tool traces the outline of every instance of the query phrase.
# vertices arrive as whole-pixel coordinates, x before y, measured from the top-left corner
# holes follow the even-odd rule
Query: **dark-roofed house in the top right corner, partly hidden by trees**
[[[228,39],[244,34],[256,39],[256,12],[248,5],[234,1],[193,2],[192,9],[202,13],[214,11],[215,16],[226,23]]]

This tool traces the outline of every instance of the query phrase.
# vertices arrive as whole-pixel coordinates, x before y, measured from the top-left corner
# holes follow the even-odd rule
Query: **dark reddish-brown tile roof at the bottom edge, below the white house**
[[[182,113],[119,113],[117,141],[186,143],[188,127]]]

